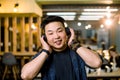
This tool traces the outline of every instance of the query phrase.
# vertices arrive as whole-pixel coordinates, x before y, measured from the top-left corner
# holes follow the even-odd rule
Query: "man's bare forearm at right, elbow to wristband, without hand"
[[[102,64],[102,60],[99,55],[92,50],[89,50],[85,47],[79,47],[76,52],[79,56],[85,61],[85,63],[93,68],[98,68]]]

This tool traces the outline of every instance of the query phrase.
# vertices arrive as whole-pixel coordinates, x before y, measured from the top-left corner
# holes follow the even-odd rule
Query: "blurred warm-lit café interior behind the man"
[[[120,0],[0,0],[2,80],[20,79],[21,67],[41,48],[40,24],[47,15],[63,17],[80,43],[100,54],[104,64],[86,67],[89,79],[120,79]],[[3,59],[5,53],[15,59]]]

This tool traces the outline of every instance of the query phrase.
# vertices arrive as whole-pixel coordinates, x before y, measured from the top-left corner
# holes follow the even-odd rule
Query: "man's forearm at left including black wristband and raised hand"
[[[49,45],[44,41],[43,37],[40,38],[42,44],[42,52],[32,61],[25,64],[21,70],[21,77],[23,80],[32,80],[40,71],[48,55],[52,52]]]

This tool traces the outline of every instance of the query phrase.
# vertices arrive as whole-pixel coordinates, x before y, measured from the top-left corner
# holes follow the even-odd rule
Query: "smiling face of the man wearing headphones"
[[[61,22],[51,22],[45,27],[48,44],[56,51],[61,51],[67,46],[67,35]]]

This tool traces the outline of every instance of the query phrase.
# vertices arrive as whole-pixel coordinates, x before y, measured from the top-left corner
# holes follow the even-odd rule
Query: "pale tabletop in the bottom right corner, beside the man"
[[[93,72],[90,74],[87,74],[88,78],[96,78],[96,79],[103,79],[103,78],[114,78],[116,80],[120,80],[120,68],[118,68],[116,71],[113,72]]]

